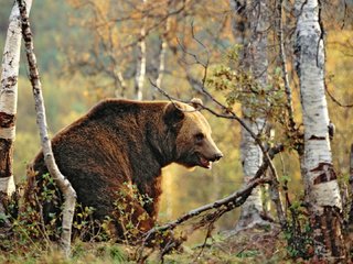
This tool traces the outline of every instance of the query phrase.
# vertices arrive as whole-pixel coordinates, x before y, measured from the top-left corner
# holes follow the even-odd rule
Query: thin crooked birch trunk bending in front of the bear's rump
[[[71,254],[71,234],[72,234],[72,222],[75,210],[76,193],[73,189],[69,182],[61,174],[52,151],[51,141],[46,131],[46,117],[44,99],[42,95],[42,84],[40,80],[40,75],[36,65],[35,54],[33,52],[33,36],[30,28],[29,16],[26,14],[25,3],[18,0],[21,24],[22,24],[22,35],[25,45],[25,53],[29,62],[30,69],[30,80],[33,88],[33,96],[35,101],[36,110],[36,123],[40,129],[41,145],[43,150],[45,165],[54,178],[55,184],[58,186],[60,190],[63,193],[65,202],[63,208],[63,222],[62,222],[62,234],[61,234],[61,248],[66,257]]]

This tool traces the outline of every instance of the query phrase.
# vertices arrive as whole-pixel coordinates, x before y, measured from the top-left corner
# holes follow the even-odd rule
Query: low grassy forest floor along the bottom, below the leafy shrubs
[[[0,263],[6,264],[117,264],[137,263],[137,249],[114,243],[73,243],[73,256],[65,260],[60,253],[33,251],[13,251],[0,254]],[[146,263],[161,263],[159,252],[151,253]],[[304,263],[288,256],[286,241],[278,230],[264,231],[250,229],[236,234],[216,235],[200,245],[184,246],[182,252],[165,255],[163,263]]]

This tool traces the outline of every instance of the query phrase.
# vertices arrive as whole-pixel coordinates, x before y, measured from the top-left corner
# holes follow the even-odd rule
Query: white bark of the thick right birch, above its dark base
[[[307,194],[318,213],[322,207],[341,208],[338,182],[313,184],[320,174],[327,173],[332,155],[328,133],[329,112],[324,95],[324,47],[319,24],[317,0],[297,0],[297,70],[300,78],[301,106],[304,124],[304,180]]]

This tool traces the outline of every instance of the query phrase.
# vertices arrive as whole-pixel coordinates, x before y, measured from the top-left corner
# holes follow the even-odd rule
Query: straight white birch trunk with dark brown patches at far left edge
[[[26,0],[30,11],[32,0]],[[21,23],[19,7],[14,3],[4,44],[0,87],[0,191],[11,196],[13,180],[13,143],[18,105],[18,79],[21,51]]]

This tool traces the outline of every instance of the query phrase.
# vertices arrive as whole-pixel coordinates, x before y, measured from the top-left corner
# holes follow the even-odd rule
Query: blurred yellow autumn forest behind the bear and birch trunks
[[[89,4],[84,1],[44,1],[33,2],[31,21],[34,32],[34,44],[38,54],[39,67],[42,76],[44,97],[46,102],[47,122],[50,133],[53,135],[60,129],[84,114],[98,100],[115,97],[117,87],[106,73],[87,67],[92,63],[92,53],[99,46],[97,40],[107,32],[94,30],[92,21],[97,13],[89,11]],[[90,2],[90,1],[87,1]],[[124,21],[129,13],[124,13],[124,8],[131,12],[131,7],[121,4],[121,10],[114,9],[110,1],[96,2],[106,18]],[[113,1],[111,1],[113,2]],[[228,1],[194,1],[186,15],[174,16],[168,33],[169,48],[165,56],[165,74],[161,88],[183,100],[192,97],[202,97],[194,89],[192,81],[188,81],[189,73],[199,81],[202,79],[200,65],[189,63],[190,57],[183,51],[183,43],[188,50],[206,59],[205,47],[208,50],[210,67],[224,63],[225,54],[236,44],[232,33],[232,10]],[[8,19],[13,1],[0,0],[0,48],[3,50]],[[347,2],[352,4],[352,2]],[[116,13],[114,13],[114,11]],[[119,12],[118,12],[119,11]],[[181,12],[183,13],[183,12]],[[115,16],[114,16],[115,15]],[[137,14],[136,14],[137,15]],[[351,88],[351,70],[353,68],[352,24],[342,29],[340,12],[327,9],[323,13],[327,21],[327,88],[330,94],[342,105],[353,102]],[[139,16],[136,16],[139,21]],[[124,69],[127,80],[126,97],[133,99],[133,75],[136,67],[136,48],[128,45],[133,43],[133,35],[139,33],[138,22],[118,23],[114,36],[121,43],[120,57],[117,59]],[[329,21],[329,22],[328,22]],[[340,22],[341,21],[341,22]],[[98,32],[98,33],[97,33]],[[197,43],[192,37],[195,34]],[[153,68],[157,67],[158,47],[160,46],[161,31],[153,29],[147,36],[147,77],[153,78]],[[124,42],[126,42],[124,45]],[[203,46],[204,45],[204,46]],[[351,48],[350,48],[351,47]],[[99,48],[103,48],[101,46]],[[34,114],[34,102],[31,95],[24,53],[21,53],[21,68],[19,79],[19,107],[17,120],[17,140],[14,150],[14,175],[17,183],[25,179],[25,166],[35,156],[40,148]],[[121,56],[124,54],[125,56]],[[108,59],[109,57],[101,57]],[[89,66],[89,65],[88,65]],[[185,70],[188,68],[188,70]],[[190,76],[189,76],[190,77]],[[190,79],[189,79],[190,80]],[[299,90],[293,84],[295,108],[299,106]],[[153,87],[149,79],[145,79],[143,99],[151,99]],[[212,95],[225,101],[220,91],[210,90]],[[159,99],[167,99],[156,94]],[[204,98],[203,98],[204,99]],[[336,133],[331,142],[334,167],[341,182],[349,177],[350,145],[352,142],[353,122],[352,108],[340,107],[328,96],[331,121],[336,127]],[[206,106],[212,106],[205,101]],[[235,111],[240,113],[240,106],[235,105]],[[296,111],[299,114],[300,111]],[[212,170],[196,168],[189,172],[176,165],[165,168],[163,177],[163,197],[160,220],[168,221],[176,218],[182,212],[197,206],[214,201],[234,190],[243,183],[240,164],[240,128],[235,121],[217,119],[204,112],[213,128],[214,140],[224,153],[224,158]],[[301,117],[296,120],[300,122]],[[286,152],[275,160],[280,167],[279,174],[290,179],[289,191],[293,200],[303,195],[300,180],[300,169],[295,152]],[[234,210],[223,217],[216,224],[218,230],[234,229],[238,211]]]

